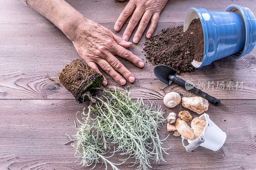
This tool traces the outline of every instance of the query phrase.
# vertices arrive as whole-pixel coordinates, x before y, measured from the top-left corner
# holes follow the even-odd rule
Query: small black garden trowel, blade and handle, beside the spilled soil
[[[188,81],[184,81],[178,77],[176,77],[177,70],[173,69],[172,67],[160,64],[154,67],[154,73],[156,77],[163,81],[164,83],[170,85],[172,82],[184,87],[186,90],[192,91],[196,93],[198,96],[203,97],[204,99],[208,100],[212,104],[218,106],[220,105],[220,100],[216,99],[208,95],[207,93],[203,92],[200,89],[195,88],[192,84]]]

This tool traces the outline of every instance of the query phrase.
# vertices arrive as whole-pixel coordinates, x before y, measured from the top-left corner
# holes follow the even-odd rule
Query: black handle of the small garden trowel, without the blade
[[[186,83],[186,81],[184,81],[174,75],[170,75],[169,79],[172,80],[174,83],[186,88],[187,90],[196,93],[198,96],[203,97],[204,99],[208,100],[212,104],[214,104],[216,106],[220,105],[220,100],[208,95],[207,93],[203,92],[200,89],[195,88],[192,84],[189,84],[188,82]]]

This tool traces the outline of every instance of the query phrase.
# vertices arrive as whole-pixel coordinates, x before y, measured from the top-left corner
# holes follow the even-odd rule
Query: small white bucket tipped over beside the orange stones
[[[198,137],[204,139],[204,142],[200,144],[200,146],[211,149],[213,151],[218,151],[226,140],[226,133],[222,131],[216,124],[214,124],[209,118],[209,115],[206,113],[201,115],[199,118],[206,121],[204,131],[200,137]],[[188,143],[190,144],[195,139],[196,138],[188,139]]]

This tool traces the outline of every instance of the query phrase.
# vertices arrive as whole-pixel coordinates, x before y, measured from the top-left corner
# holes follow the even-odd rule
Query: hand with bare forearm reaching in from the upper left
[[[132,43],[124,41],[109,29],[85,18],[66,1],[27,0],[27,3],[64,32],[90,67],[100,73],[98,64],[119,84],[124,85],[125,79],[133,82],[135,78],[113,54],[131,61],[138,67],[144,66],[139,57],[125,49]],[[103,85],[107,83],[104,77]]]

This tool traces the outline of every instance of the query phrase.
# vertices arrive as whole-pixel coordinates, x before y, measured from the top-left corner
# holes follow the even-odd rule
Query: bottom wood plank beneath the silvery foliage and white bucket
[[[152,101],[163,105],[161,100]],[[87,108],[87,104],[74,100],[0,100],[0,167],[80,169],[75,163],[72,146],[63,144],[68,141],[65,134],[72,135],[76,131],[76,111]],[[164,137],[171,134],[167,138],[169,144],[164,142],[164,146],[171,146],[171,149],[169,155],[164,155],[167,162],[152,163],[152,169],[255,169],[255,107],[255,100],[224,100],[220,106],[209,105],[207,114],[227,133],[225,144],[217,152],[199,147],[187,153],[180,137],[173,137],[164,124],[160,132]],[[181,104],[172,109],[163,108],[166,109],[164,117],[169,112],[187,110]],[[121,158],[116,154],[110,160],[116,162]],[[127,162],[121,169],[134,169],[128,165],[131,164]]]

